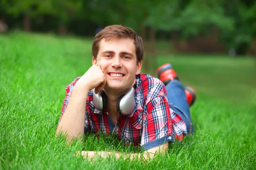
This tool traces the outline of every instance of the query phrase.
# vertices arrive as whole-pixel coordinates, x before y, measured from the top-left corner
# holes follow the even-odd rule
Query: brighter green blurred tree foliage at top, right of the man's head
[[[172,43],[206,36],[213,31],[232,31],[234,20],[224,13],[221,1],[165,0],[155,7],[146,25],[171,34]]]

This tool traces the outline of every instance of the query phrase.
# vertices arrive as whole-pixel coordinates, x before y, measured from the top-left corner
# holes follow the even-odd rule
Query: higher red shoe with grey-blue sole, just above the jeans
[[[157,76],[164,85],[167,85],[173,79],[179,79],[170,63],[163,64],[157,68]]]

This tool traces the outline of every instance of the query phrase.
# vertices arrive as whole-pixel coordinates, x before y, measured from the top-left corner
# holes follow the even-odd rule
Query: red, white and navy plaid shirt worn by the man
[[[66,88],[67,94],[61,109],[61,117],[79,78],[76,78]],[[114,133],[124,143],[133,142],[135,146],[143,146],[142,150],[173,142],[173,135],[176,136],[176,139],[182,140],[187,134],[185,122],[169,108],[166,88],[159,79],[148,74],[137,75],[134,99],[134,112],[129,115],[119,114],[118,123],[114,126],[108,116],[108,109],[100,111],[94,107],[92,91],[89,91],[84,133],[87,131],[93,133],[101,131],[107,135]]]

